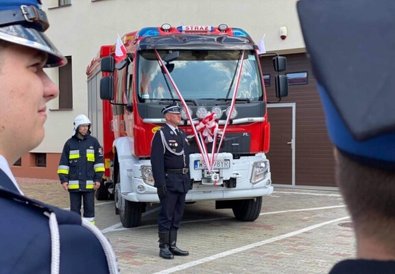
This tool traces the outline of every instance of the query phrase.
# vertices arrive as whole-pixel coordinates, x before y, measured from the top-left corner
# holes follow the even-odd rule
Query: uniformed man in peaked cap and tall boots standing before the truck
[[[158,216],[159,256],[188,256],[176,246],[177,232],[184,214],[185,196],[190,187],[189,142],[187,134],[178,129],[180,107],[172,103],[163,108],[166,125],[152,139],[151,164],[155,187],[160,199]]]

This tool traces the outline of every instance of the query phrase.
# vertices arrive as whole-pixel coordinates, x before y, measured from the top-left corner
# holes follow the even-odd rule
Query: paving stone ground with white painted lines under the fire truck
[[[16,178],[25,195],[69,208],[58,181]],[[158,256],[158,205],[147,208],[141,227],[124,228],[113,201],[96,201],[97,227],[108,237],[121,273],[328,273],[352,258],[352,224],[339,192],[276,188],[263,198],[261,216],[239,222],[214,201],[188,204],[178,233],[187,257]]]

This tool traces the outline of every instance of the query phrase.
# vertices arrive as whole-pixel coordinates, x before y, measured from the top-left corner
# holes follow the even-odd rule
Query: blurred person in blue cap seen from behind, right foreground
[[[297,8],[357,240],[331,273],[395,273],[395,2]]]

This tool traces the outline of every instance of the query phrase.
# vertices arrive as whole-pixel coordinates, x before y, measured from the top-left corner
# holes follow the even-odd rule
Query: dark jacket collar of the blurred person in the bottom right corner
[[[395,261],[344,260],[335,264],[329,274],[393,274]]]

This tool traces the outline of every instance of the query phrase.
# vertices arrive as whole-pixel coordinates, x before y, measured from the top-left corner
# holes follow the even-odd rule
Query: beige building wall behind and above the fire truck
[[[51,159],[55,160],[71,136],[74,117],[88,112],[86,66],[101,45],[115,44],[117,34],[123,36],[132,30],[163,23],[173,26],[226,23],[244,29],[256,43],[265,36],[267,51],[304,51],[296,0],[71,0],[71,5],[60,8],[58,0],[42,2],[51,25],[45,34],[60,52],[72,56],[73,63],[73,110],[57,110],[57,99],[49,102],[45,139],[32,151],[52,153]],[[285,40],[280,38],[280,27],[287,27]],[[58,82],[58,69],[48,69],[47,73]],[[29,177],[29,172],[24,170],[19,167],[19,175]],[[53,173],[57,177],[56,171],[45,172],[47,177]]]

